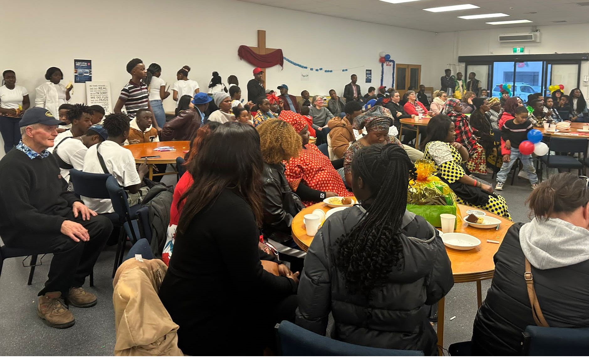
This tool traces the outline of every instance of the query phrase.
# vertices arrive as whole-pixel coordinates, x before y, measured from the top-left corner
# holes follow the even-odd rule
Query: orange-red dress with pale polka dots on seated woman
[[[346,190],[342,177],[337,173],[329,158],[322,154],[316,145],[307,144],[299,157],[291,158],[284,164],[284,175],[293,191],[299,188],[301,181],[317,191],[336,192],[339,196],[352,197],[354,194]],[[303,201],[309,207],[316,202]]]

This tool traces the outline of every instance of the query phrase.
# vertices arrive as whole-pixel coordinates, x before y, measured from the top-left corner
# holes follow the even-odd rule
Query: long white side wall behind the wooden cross
[[[12,50],[4,52],[0,68],[16,71],[18,84],[31,93],[31,102],[48,67],[61,68],[62,82],[67,84],[74,78],[74,59],[91,59],[92,79],[111,82],[114,106],[130,78],[125,65],[135,57],[145,65],[160,64],[168,84],[176,81],[178,69],[189,65],[189,78],[198,81],[201,91],[213,71],[219,72],[224,82],[229,75],[237,75],[246,97],[253,66],[239,60],[237,48],[257,45],[257,29],[266,30],[268,47],[282,48],[284,56],[299,64],[360,67],[349,72],[312,72],[310,81],[303,82],[302,69],[285,62],[284,69],[276,66],[267,70],[267,88],[276,89],[284,83],[293,95],[300,95],[303,89],[311,95],[327,94],[330,88],[341,95],[350,75],[358,74],[365,93],[368,86],[379,85],[380,51],[390,53],[398,63],[422,64],[422,82],[431,77],[431,56],[402,48],[409,36],[419,48],[425,48],[431,44],[432,33],[240,1],[16,1],[2,7],[4,14],[13,14],[4,16],[2,28],[13,29],[17,37]],[[370,85],[364,83],[366,68],[373,71]],[[84,101],[84,85],[75,84],[72,102]],[[171,96],[164,101],[164,108],[175,108]]]

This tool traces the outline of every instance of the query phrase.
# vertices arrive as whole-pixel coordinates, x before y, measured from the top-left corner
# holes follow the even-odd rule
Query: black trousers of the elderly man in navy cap
[[[112,231],[112,222],[101,215],[82,221],[82,216],[74,218],[73,212],[65,216],[68,220],[78,222],[88,230],[90,241],[74,242],[70,237],[59,234],[57,237],[25,236],[14,242],[6,243],[14,248],[31,248],[53,253],[49,267],[48,280],[38,295],[46,292],[61,292],[65,297],[70,288],[81,287],[92,272],[98,255],[104,248]]]

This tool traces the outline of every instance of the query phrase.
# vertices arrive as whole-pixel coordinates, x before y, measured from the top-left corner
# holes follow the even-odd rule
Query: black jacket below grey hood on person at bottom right
[[[491,288],[472,331],[473,355],[518,355],[521,333],[527,325],[536,325],[524,280],[522,225],[509,228],[495,254]],[[547,270],[532,266],[532,275],[542,314],[551,327],[589,327],[589,261]]]

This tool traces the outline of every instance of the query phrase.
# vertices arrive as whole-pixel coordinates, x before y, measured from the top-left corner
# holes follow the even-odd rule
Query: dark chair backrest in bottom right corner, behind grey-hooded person
[[[589,328],[525,327],[524,355],[587,355]]]

